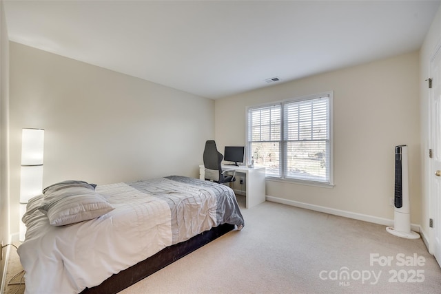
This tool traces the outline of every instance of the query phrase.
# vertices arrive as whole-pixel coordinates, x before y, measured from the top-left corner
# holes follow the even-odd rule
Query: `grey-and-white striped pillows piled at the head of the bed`
[[[54,226],[92,220],[112,211],[114,207],[95,191],[95,185],[82,181],[65,181],[43,190],[39,210]]]

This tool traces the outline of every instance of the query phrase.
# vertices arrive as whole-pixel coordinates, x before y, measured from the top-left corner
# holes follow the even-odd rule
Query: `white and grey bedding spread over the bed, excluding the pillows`
[[[210,189],[167,178],[147,183],[154,188],[141,191],[126,183],[97,186],[96,191],[115,209],[63,227],[49,224],[37,209],[43,196],[32,198],[23,217],[28,231],[18,250],[25,269],[25,293],[79,293],[222,222]],[[152,189],[167,191],[170,197],[162,198]],[[242,226],[243,219],[237,224]]]

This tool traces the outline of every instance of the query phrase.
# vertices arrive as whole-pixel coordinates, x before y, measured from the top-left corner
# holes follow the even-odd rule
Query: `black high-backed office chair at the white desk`
[[[205,180],[211,180],[213,182],[218,182],[222,184],[224,182],[234,182],[236,178],[236,171],[234,169],[222,170],[221,162],[223,160],[223,155],[220,154],[216,148],[216,142],[214,140],[207,140],[205,142],[204,149],[204,167],[205,167]],[[224,176],[227,171],[234,171],[232,176]]]

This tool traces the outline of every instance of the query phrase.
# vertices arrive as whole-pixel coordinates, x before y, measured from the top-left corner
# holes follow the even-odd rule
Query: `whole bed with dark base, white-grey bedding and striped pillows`
[[[59,182],[22,220],[26,293],[116,293],[244,226],[232,189],[182,176]]]

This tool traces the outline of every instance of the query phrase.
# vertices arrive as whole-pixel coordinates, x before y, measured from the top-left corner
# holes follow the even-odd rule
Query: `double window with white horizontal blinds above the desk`
[[[333,184],[332,92],[247,109],[247,158],[267,177]]]

